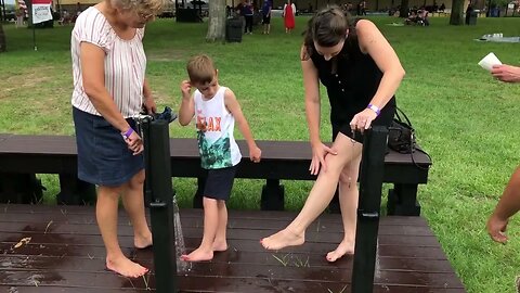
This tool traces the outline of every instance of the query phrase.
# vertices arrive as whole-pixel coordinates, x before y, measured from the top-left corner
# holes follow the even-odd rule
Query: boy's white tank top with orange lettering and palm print
[[[240,150],[233,137],[235,117],[224,103],[226,89],[220,87],[210,100],[204,99],[198,90],[194,93],[198,152],[200,165],[205,169],[232,167],[242,160]]]

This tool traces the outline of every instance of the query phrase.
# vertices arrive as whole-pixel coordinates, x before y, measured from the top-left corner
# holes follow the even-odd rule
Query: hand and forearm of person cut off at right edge
[[[520,67],[512,65],[493,65],[491,74],[504,82],[520,82]],[[502,198],[487,220],[487,233],[499,243],[507,242],[506,228],[509,218],[520,211],[520,166],[517,167],[507,183]]]

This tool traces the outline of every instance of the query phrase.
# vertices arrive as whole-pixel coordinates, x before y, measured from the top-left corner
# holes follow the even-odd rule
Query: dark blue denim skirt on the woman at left
[[[78,145],[78,178],[98,186],[118,187],[144,168],[143,155],[133,155],[118,129],[102,116],[73,107]],[[133,119],[128,124],[135,129]]]

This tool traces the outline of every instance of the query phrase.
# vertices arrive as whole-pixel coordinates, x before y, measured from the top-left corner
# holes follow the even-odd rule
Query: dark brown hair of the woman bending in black
[[[309,21],[303,35],[306,50],[302,52],[301,60],[308,60],[314,53],[314,42],[323,47],[333,47],[344,40],[347,49],[358,44],[355,22],[337,5],[329,5],[318,11]]]

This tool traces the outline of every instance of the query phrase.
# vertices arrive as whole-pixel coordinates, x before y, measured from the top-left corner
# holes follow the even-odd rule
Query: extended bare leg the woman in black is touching
[[[339,133],[333,144],[338,152],[325,157],[327,171],[320,170],[316,182],[307,198],[303,208],[284,230],[261,240],[266,250],[281,250],[286,246],[301,245],[306,241],[306,229],[325,211],[338,186],[339,175],[352,160],[354,148],[350,138]]]

